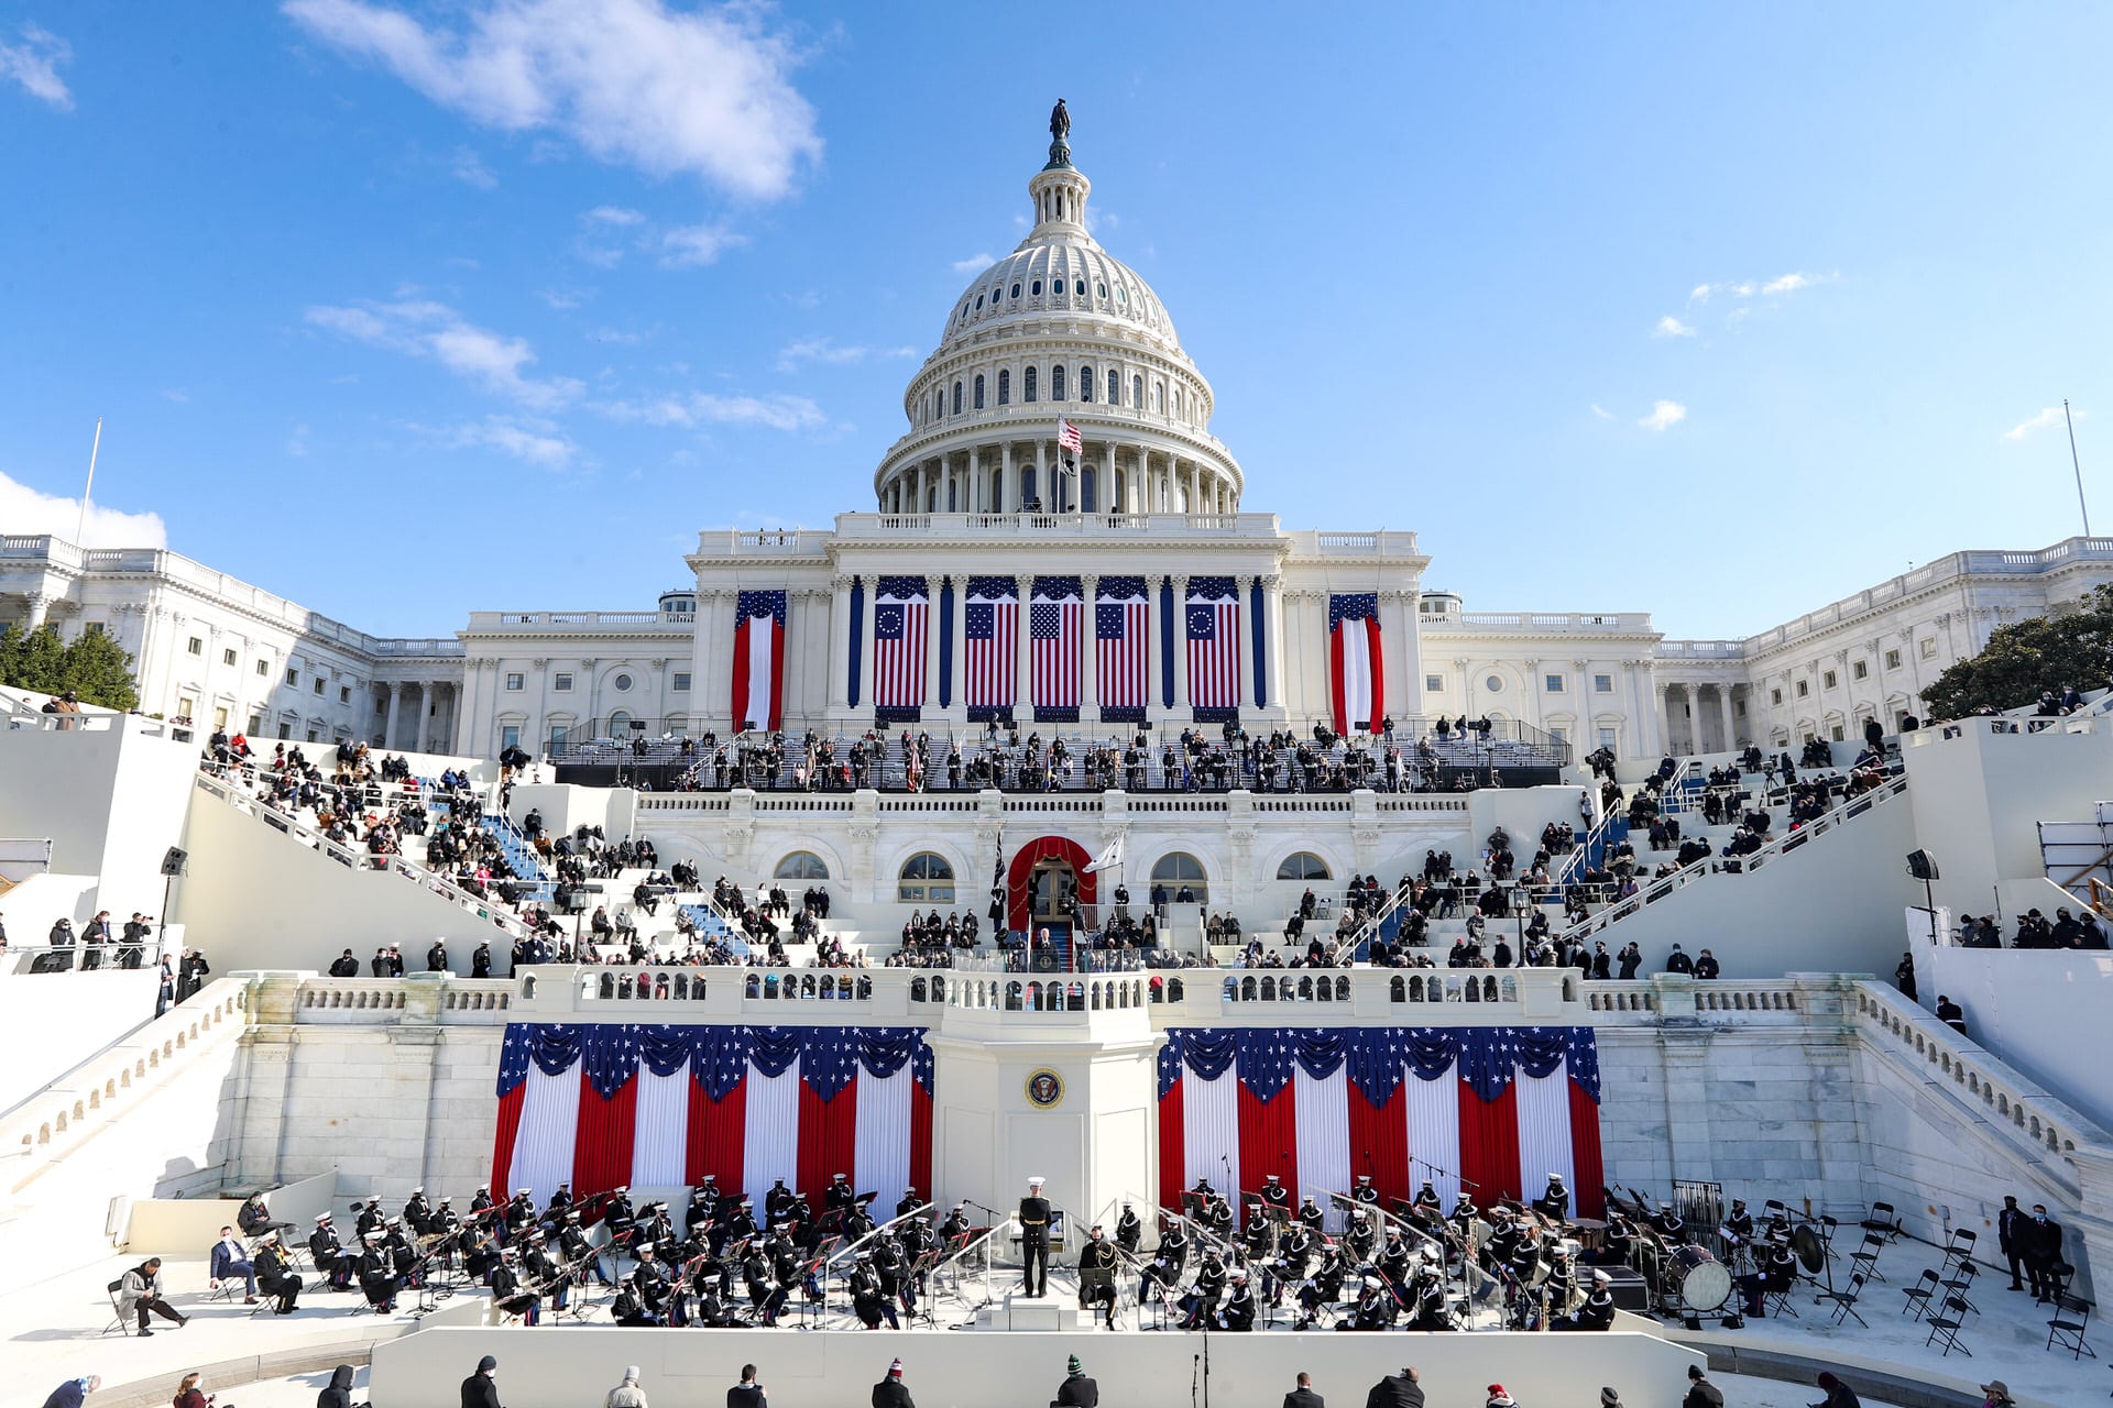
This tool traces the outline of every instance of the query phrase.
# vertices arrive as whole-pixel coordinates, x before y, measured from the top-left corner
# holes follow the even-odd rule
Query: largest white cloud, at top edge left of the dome
[[[560,133],[600,160],[778,198],[822,154],[792,87],[799,53],[763,6],[475,0],[459,23],[370,0],[283,0],[319,40],[509,133]]]

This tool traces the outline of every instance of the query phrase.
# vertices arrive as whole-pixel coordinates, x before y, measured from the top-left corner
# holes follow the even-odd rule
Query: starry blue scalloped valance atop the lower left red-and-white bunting
[[[748,1068],[780,1077],[801,1062],[801,1081],[822,1100],[864,1070],[885,1079],[911,1064],[932,1093],[932,1047],[921,1026],[668,1026],[651,1022],[513,1022],[499,1051],[499,1096],[535,1066],[558,1077],[581,1066],[587,1085],[613,1100],[644,1066],[670,1077],[685,1066],[712,1100],[725,1100]]]

